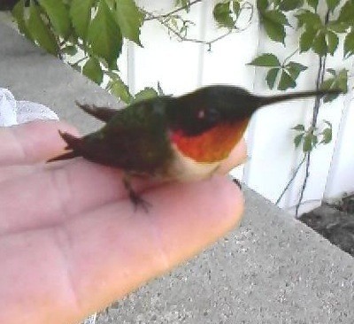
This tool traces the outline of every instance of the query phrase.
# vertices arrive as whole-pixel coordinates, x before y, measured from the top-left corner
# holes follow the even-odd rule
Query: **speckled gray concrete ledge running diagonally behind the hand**
[[[0,87],[47,104],[82,131],[75,99],[112,97],[0,23]],[[258,194],[242,225],[99,315],[98,323],[354,323],[354,260]],[[95,256],[93,256],[95,258]]]

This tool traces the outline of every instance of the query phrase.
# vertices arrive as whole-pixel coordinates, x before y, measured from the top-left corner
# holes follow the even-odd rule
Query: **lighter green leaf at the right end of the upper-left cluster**
[[[144,15],[136,6],[134,0],[116,0],[116,19],[122,35],[138,45]]]

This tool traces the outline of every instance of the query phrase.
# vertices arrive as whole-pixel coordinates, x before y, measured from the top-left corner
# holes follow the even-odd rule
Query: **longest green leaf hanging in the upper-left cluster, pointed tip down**
[[[88,40],[97,57],[104,58],[110,68],[117,66],[117,58],[122,47],[122,35],[104,0],[100,2],[96,17],[89,25]]]

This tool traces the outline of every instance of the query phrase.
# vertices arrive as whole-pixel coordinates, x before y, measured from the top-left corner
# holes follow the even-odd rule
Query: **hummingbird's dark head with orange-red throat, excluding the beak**
[[[171,140],[198,162],[227,158],[241,139],[258,98],[244,89],[211,86],[173,98],[169,110]]]

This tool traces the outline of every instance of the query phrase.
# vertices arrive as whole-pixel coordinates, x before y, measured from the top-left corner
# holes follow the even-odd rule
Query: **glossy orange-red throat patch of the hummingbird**
[[[248,121],[246,119],[234,124],[222,124],[196,136],[187,136],[181,131],[175,131],[171,140],[183,155],[197,162],[218,162],[227,158],[240,141]]]

